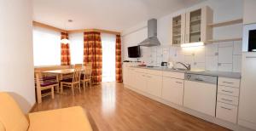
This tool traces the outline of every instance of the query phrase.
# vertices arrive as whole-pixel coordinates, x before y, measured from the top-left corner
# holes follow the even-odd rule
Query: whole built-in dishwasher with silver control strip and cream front
[[[185,74],[183,105],[215,117],[218,77]]]

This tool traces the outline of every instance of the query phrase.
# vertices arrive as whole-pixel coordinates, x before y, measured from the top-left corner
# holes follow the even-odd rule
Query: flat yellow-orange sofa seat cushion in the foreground
[[[82,107],[75,106],[29,114],[28,131],[92,131]]]

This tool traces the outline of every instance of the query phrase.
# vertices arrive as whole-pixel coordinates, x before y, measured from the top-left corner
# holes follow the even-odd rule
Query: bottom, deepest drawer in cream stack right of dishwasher
[[[237,106],[217,102],[216,117],[225,121],[236,123]]]

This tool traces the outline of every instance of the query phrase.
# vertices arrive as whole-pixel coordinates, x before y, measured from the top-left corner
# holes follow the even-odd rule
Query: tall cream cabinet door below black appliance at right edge
[[[239,124],[256,129],[256,54],[242,54],[242,71],[241,71],[241,92],[239,103],[239,119],[248,122],[239,122]]]

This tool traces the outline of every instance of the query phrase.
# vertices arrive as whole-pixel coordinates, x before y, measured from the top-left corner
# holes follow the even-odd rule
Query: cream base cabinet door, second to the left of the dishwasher
[[[152,94],[154,96],[161,96],[161,89],[162,89],[162,77],[155,76],[155,75],[147,75],[148,83],[147,83],[147,93]]]

